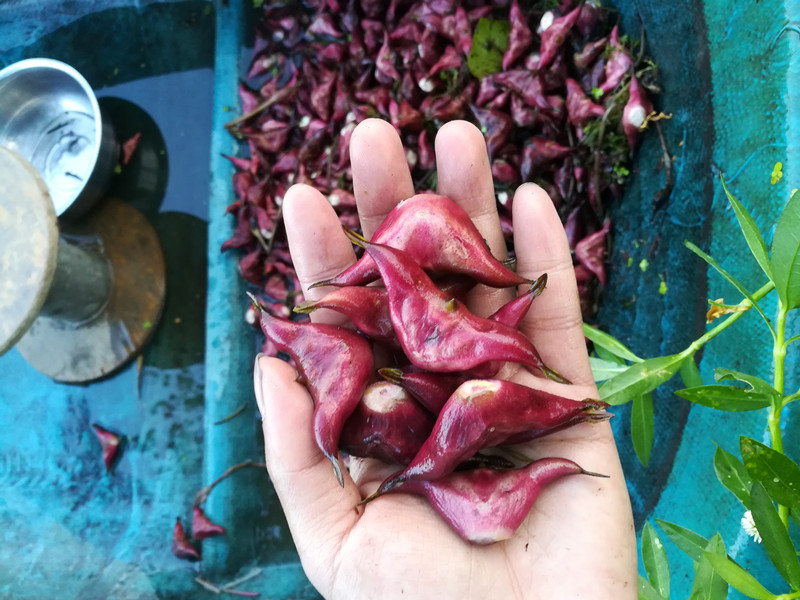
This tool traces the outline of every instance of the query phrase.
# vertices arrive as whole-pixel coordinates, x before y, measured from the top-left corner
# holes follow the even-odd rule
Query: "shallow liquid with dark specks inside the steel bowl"
[[[56,212],[80,194],[95,163],[97,123],[91,115],[66,111],[42,129],[31,164],[42,175]]]

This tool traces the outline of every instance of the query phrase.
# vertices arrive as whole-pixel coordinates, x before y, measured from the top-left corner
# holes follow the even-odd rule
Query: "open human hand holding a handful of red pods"
[[[505,258],[491,170],[481,133],[465,122],[444,125],[436,137],[438,190],[472,217],[495,256]],[[364,235],[369,238],[400,200],[414,194],[399,137],[380,120],[358,125],[350,147],[353,183]],[[355,261],[338,218],[318,191],[292,187],[283,204],[289,245],[307,300],[309,289]],[[534,377],[507,364],[498,378],[574,399],[597,398],[582,332],[570,250],[546,193],[525,184],[514,195],[517,272],[548,274],[521,331],[543,361],[572,385]],[[472,312],[487,316],[513,290],[478,286]],[[319,310],[315,321],[342,323]],[[581,424],[526,444],[532,458],[559,456],[608,479],[567,477],[545,487],[509,540],[477,546],[462,540],[428,502],[389,494],[366,506],[362,498],[397,471],[352,459],[342,489],[312,434],[313,404],[296,371],[270,357],[257,359],[256,397],[263,416],[266,463],[311,583],[325,597],[501,598],[552,600],[637,597],[636,539],[631,506],[607,422]]]

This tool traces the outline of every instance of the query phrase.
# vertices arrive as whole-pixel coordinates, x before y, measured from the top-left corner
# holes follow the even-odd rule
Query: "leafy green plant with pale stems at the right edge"
[[[729,586],[757,600],[790,600],[800,598],[800,548],[790,537],[790,530],[800,526],[800,466],[784,452],[781,417],[783,410],[800,398],[800,391],[786,393],[784,389],[786,354],[790,345],[800,339],[800,336],[786,339],[787,316],[800,307],[800,191],[792,192],[768,250],[752,216],[729,192],[724,180],[722,185],[745,241],[767,282],[756,291],[747,290],[717,261],[687,241],[685,245],[689,250],[706,261],[743,296],[742,301],[735,305],[723,304],[721,300],[710,302],[709,322],[718,317],[723,318],[721,322],[683,351],[647,359],[636,356],[606,333],[586,325],[584,331],[594,343],[591,361],[595,379],[600,383],[601,398],[612,405],[632,403],[631,437],[643,465],[650,458],[653,441],[651,392],[676,373],[686,385],[676,393],[690,402],[721,411],[768,411],[770,445],[742,436],[740,457],[718,448],[713,464],[720,483],[747,509],[743,526],[763,541],[764,549],[784,579],[787,590],[779,594],[767,590],[754,574],[727,554],[718,533],[707,539],[674,523],[658,519],[656,523],[666,537],[694,561],[695,578],[690,600],[726,598]],[[774,323],[759,304],[773,291],[777,294]],[[704,384],[695,354],[750,310],[761,316],[772,338],[773,381],[768,383],[755,375],[718,368],[714,374],[715,382]],[[656,528],[649,522],[642,531],[641,547],[647,576],[639,576],[639,598],[668,600],[670,572],[667,554]]]

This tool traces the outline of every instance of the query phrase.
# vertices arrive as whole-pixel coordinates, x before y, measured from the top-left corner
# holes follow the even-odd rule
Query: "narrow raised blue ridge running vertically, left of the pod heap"
[[[247,14],[238,2],[218,3],[217,11],[206,313],[206,363],[214,365],[206,372],[204,479],[207,482],[232,465],[264,460],[252,384],[257,348],[253,330],[243,319],[249,301],[237,269],[238,258],[219,250],[235,226],[234,220],[225,214],[234,199],[233,168],[222,154],[236,155],[239,151],[239,144],[227,133],[224,124],[239,114],[240,55],[247,35]],[[242,406],[244,413],[234,421],[224,426],[214,425]],[[247,469],[225,480],[215,488],[207,508],[209,514],[228,528],[230,543],[213,540],[215,543],[207,544],[204,570],[222,575],[252,564],[286,563],[271,568],[260,589],[280,594],[276,597],[281,598],[316,597],[299,567],[283,513],[263,469]]]

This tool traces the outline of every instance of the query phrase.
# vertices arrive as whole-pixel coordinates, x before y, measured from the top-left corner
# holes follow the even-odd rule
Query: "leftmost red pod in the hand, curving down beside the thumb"
[[[367,387],[373,368],[372,347],[355,331],[322,323],[295,323],[261,309],[261,330],[289,354],[314,400],[314,437],[344,486],[337,456],[339,436]]]

